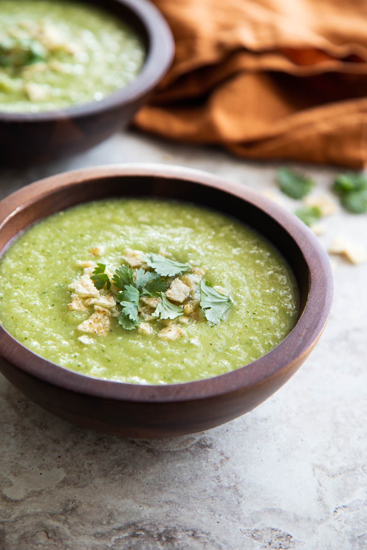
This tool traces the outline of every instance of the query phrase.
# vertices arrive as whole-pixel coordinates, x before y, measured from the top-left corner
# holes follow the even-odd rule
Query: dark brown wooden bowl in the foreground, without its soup
[[[0,370],[32,401],[70,422],[129,437],[199,432],[244,414],[272,395],[302,365],[324,330],[333,277],[315,235],[292,213],[244,185],[174,166],[135,164],[87,168],[46,178],[0,202],[0,254],[19,232],[54,212],[115,196],[191,201],[255,228],[293,268],[300,315],[269,353],[224,375],[145,386],[108,381],[57,366],[0,327]]]

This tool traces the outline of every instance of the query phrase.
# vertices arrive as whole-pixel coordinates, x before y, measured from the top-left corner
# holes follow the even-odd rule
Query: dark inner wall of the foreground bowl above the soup
[[[256,229],[281,252],[291,266],[300,291],[300,313],[309,293],[309,268],[291,235],[269,215],[250,202],[198,183],[177,178],[139,175],[106,177],[65,185],[46,196],[39,196],[19,208],[3,224],[0,257],[20,232],[40,219],[80,204],[108,197],[156,197],[192,202],[233,216]]]

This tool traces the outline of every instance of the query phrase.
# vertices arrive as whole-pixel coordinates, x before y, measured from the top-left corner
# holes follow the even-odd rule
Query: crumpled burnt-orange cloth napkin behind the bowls
[[[155,0],[173,65],[135,124],[248,158],[367,163],[367,0]]]

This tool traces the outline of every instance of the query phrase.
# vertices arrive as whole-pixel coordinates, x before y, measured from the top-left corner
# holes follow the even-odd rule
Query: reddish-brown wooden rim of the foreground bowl
[[[325,249],[313,232],[291,212],[244,185],[195,169],[160,164],[122,164],[79,169],[28,185],[0,202],[0,231],[9,217],[53,193],[86,180],[116,176],[153,176],[211,186],[247,201],[280,224],[302,251],[309,267],[309,295],[302,316],[291,333],[269,353],[223,375],[165,386],[128,384],[84,375],[58,366],[17,342],[0,326],[0,355],[43,381],[74,392],[124,401],[167,402],[214,397],[254,386],[302,362],[319,339],[331,310],[333,276]]]

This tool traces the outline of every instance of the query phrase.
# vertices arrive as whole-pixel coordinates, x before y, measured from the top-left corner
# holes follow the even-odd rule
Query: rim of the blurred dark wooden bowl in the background
[[[144,96],[160,82],[171,65],[174,54],[173,35],[167,21],[150,0],[114,0],[114,2],[132,10],[140,19],[149,37],[149,51],[143,68],[136,78],[101,101],[91,101],[40,113],[12,113],[0,110],[0,122],[34,123],[87,117],[123,107]],[[102,4],[100,7],[103,9]]]

